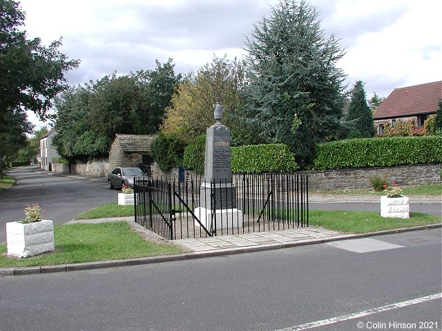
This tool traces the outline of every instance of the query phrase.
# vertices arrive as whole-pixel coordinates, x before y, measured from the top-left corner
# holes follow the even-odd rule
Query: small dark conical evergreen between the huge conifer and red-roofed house
[[[350,138],[371,138],[376,133],[372,110],[367,105],[362,81],[356,81],[354,84],[352,100],[345,120],[352,128],[349,132]]]

